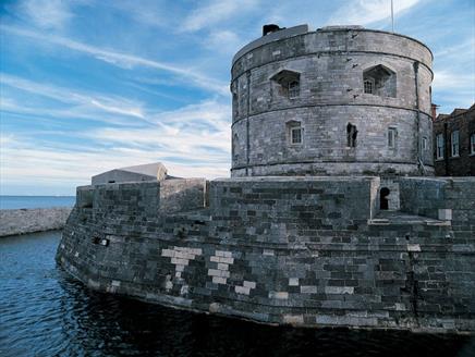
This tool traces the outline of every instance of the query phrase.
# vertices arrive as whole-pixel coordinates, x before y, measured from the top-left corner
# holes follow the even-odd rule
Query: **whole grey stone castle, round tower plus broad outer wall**
[[[431,176],[431,61],[393,33],[265,26],[233,59],[232,177],[99,176],[58,262],[264,323],[474,333],[475,177]]]

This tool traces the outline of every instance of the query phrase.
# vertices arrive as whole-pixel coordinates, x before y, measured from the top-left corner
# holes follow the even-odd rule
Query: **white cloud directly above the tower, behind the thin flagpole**
[[[394,0],[394,15],[414,7],[421,0]],[[390,0],[346,1],[328,21],[329,25],[367,25],[391,16]]]

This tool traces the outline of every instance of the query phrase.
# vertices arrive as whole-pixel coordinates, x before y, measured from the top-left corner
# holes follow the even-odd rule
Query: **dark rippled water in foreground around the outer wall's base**
[[[273,328],[94,293],[56,267],[59,239],[0,238],[0,356],[475,356],[475,337]]]

